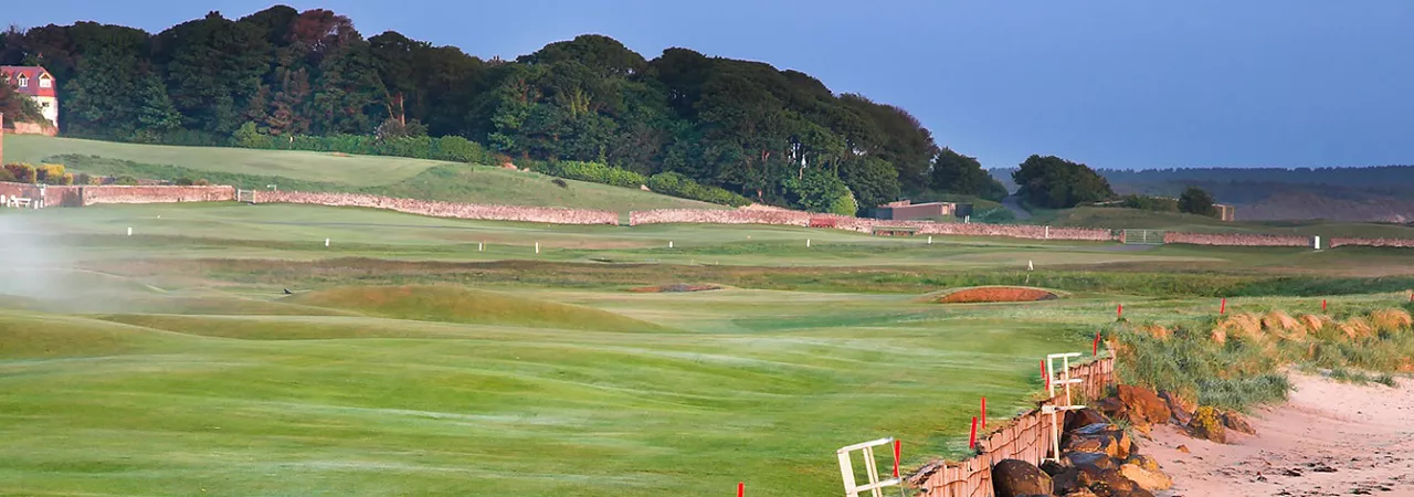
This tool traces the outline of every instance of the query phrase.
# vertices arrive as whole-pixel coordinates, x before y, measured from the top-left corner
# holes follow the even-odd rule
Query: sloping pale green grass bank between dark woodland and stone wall
[[[427,200],[559,206],[614,212],[721,209],[721,206],[583,181],[557,186],[553,178],[486,165],[400,157],[327,152],[167,147],[109,141],[6,136],[6,161],[54,161],[72,171],[153,179],[201,179],[240,188],[362,192]],[[59,155],[65,155],[62,160]]]

